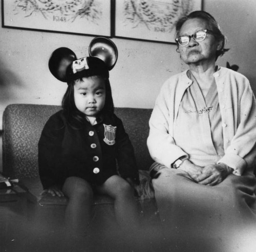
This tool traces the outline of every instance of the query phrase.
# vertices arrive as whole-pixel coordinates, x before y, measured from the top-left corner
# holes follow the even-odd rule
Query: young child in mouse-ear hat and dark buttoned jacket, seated
[[[102,37],[91,45],[89,55],[96,56],[77,60],[61,47],[50,57],[50,71],[68,88],[62,110],[50,117],[41,133],[40,180],[43,193],[68,197],[66,221],[73,232],[86,231],[94,193],[114,199],[118,223],[130,230],[139,224],[133,187],[139,176],[129,136],[114,114],[109,70],[117,49]]]

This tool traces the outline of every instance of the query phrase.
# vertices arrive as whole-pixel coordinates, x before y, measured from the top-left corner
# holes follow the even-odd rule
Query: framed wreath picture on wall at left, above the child
[[[2,0],[2,26],[111,36],[111,0]]]

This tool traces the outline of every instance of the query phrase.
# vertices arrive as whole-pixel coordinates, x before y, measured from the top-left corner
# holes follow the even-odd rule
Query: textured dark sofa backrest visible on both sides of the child
[[[37,143],[48,118],[60,106],[12,104],[3,114],[3,173],[11,178],[38,176]],[[116,108],[133,143],[138,168],[147,170],[153,163],[146,138],[151,109]]]

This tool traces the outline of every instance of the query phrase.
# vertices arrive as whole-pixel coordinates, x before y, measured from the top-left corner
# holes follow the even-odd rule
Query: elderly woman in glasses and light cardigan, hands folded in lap
[[[189,69],[161,88],[147,140],[159,214],[183,245],[187,236],[203,246],[202,234],[234,245],[255,220],[255,98],[242,74],[216,64],[227,49],[214,17],[192,12],[176,32]]]

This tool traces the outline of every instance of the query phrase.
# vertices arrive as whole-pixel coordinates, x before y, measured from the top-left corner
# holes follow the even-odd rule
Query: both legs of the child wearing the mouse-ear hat
[[[74,234],[87,231],[91,217],[93,190],[91,185],[78,177],[66,179],[63,193],[69,198],[66,208],[66,225]],[[115,216],[124,231],[139,228],[139,210],[134,197],[133,187],[118,175],[113,175],[102,185],[96,186],[99,194],[109,195],[114,199]]]

